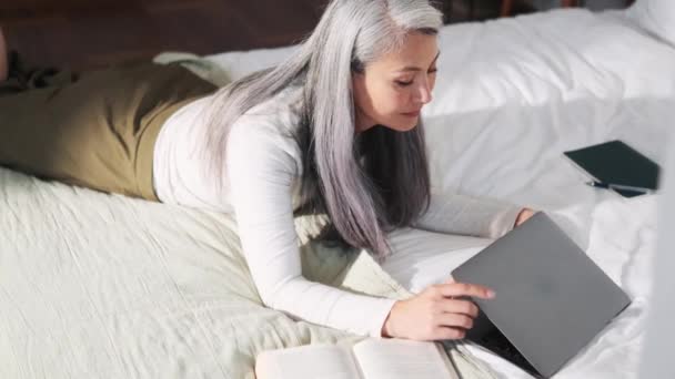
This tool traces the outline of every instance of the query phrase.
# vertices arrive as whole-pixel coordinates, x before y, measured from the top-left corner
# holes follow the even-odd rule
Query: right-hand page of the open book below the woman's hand
[[[365,379],[454,379],[445,354],[434,342],[366,339],[353,348]],[[443,354],[443,355],[442,355]]]

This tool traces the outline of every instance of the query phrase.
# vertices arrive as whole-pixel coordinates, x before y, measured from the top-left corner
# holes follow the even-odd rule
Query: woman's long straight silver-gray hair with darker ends
[[[208,125],[209,172],[220,174],[236,119],[293,82],[303,85],[301,125],[304,209],[326,213],[333,236],[391,252],[385,233],[429,207],[430,177],[421,125],[409,132],[374,126],[355,135],[352,75],[399,49],[406,34],[436,34],[442,13],[429,0],[332,0],[318,27],[283,63],[219,91]]]

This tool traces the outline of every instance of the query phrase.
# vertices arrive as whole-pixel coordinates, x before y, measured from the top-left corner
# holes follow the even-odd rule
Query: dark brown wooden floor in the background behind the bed
[[[290,44],[313,29],[324,1],[0,0],[0,25],[10,47],[32,64],[95,69],[149,60],[167,50],[209,54]],[[436,1],[444,4],[447,22],[495,18],[502,4],[501,0]],[[560,4],[560,0],[521,2],[534,2],[535,10]],[[625,0],[585,2],[598,9],[621,7]]]

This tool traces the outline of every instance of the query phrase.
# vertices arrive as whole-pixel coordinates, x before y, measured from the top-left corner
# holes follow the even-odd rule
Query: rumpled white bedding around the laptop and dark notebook
[[[265,51],[260,61],[250,53],[213,59],[236,63],[240,76],[293,49]],[[591,188],[562,153],[621,139],[662,163],[675,106],[675,50],[624,11],[575,9],[444,28],[441,51],[434,101],[423,111],[434,185],[550,212],[633,299],[556,378],[635,377],[659,195],[627,199]],[[383,267],[413,291],[442,281],[491,243],[414,229],[391,239],[397,254]],[[504,378],[530,377],[472,350]]]

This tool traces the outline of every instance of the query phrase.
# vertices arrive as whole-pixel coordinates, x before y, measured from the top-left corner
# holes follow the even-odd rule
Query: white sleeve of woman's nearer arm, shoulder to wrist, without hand
[[[225,174],[243,253],[262,301],[310,322],[380,337],[395,300],[355,295],[302,276],[291,197],[299,153],[264,127],[236,126],[229,136]]]

